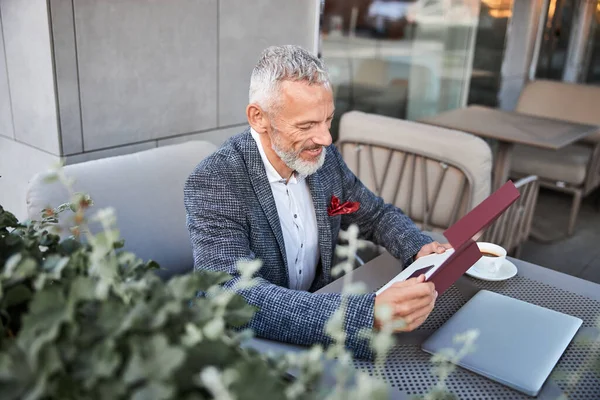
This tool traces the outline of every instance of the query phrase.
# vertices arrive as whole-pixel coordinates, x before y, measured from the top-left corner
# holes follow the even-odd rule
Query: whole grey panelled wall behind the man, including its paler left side
[[[0,0],[0,185],[11,183],[0,204],[20,204],[27,177],[58,157],[221,144],[241,132],[260,51],[316,52],[318,4]],[[26,156],[38,161],[25,168]]]

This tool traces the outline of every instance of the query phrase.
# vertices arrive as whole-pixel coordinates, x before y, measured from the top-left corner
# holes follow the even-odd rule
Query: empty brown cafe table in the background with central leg
[[[560,150],[598,130],[597,126],[534,117],[483,106],[443,112],[419,122],[471,133],[498,142],[494,161],[494,190],[509,178],[514,144]]]

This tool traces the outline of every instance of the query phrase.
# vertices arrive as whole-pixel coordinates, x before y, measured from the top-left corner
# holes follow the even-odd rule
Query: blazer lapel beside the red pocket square
[[[319,230],[319,250],[321,251],[321,265],[323,273],[329,276],[332,261],[331,222],[327,214],[327,198],[320,178],[321,170],[307,177],[308,187],[313,199],[317,226]]]

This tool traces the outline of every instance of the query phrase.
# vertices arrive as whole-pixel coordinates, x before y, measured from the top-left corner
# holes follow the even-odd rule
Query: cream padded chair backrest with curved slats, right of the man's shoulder
[[[425,231],[445,230],[490,194],[491,149],[467,133],[351,111],[337,146],[365,186]]]

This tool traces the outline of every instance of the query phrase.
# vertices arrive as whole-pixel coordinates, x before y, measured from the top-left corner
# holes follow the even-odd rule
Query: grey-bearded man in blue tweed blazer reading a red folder
[[[266,49],[250,78],[249,103],[250,127],[202,161],[185,185],[195,269],[228,272],[234,276],[231,287],[239,279],[238,260],[262,260],[258,285],[240,293],[259,308],[250,328],[264,338],[327,345],[325,323],[341,296],[313,292],[332,281],[340,229],[358,225],[362,238],[405,264],[448,245],[432,242],[348,169],[329,134],[331,85],[311,53],[296,46]],[[354,207],[330,215],[332,200]],[[390,306],[393,318],[410,331],[425,321],[436,296],[423,276],[377,297],[353,295],[346,346],[358,357],[370,356],[359,333],[381,326],[376,307]]]

